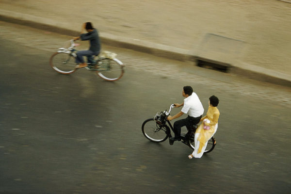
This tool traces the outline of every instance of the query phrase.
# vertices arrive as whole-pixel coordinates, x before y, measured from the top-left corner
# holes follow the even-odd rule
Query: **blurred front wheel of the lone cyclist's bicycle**
[[[64,52],[55,52],[51,55],[49,65],[61,74],[70,74],[77,70],[75,58]]]

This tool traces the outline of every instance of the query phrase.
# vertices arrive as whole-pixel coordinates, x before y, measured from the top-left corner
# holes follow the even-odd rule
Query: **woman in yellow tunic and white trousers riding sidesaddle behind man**
[[[200,119],[203,121],[195,132],[195,149],[188,157],[189,159],[201,158],[207,146],[208,140],[214,135],[218,127],[219,110],[217,109],[219,99],[215,96],[209,98],[209,107],[206,115]]]

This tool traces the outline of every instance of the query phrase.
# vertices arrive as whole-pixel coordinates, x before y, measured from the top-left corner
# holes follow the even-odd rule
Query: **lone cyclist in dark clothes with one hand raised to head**
[[[87,31],[87,33],[84,33],[85,31]],[[87,56],[88,63],[92,63],[94,59],[93,55],[99,54],[100,40],[97,30],[93,28],[91,22],[83,23],[81,35],[74,38],[74,40],[78,39],[90,41],[89,50],[80,50],[77,52],[76,63],[79,65],[77,65],[76,68],[82,68],[87,66],[87,64],[84,62],[83,56]]]

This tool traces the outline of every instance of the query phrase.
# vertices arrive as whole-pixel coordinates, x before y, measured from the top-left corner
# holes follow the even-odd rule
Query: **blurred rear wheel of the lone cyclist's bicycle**
[[[124,65],[118,59],[101,59],[97,65],[98,76],[106,81],[116,81],[123,76]]]

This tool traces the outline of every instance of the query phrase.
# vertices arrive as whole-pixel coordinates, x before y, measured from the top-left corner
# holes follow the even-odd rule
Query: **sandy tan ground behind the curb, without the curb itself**
[[[291,74],[291,4],[279,0],[1,0],[1,9],[40,16],[78,30],[92,21],[99,32],[193,53],[207,33],[243,41],[238,65]]]

